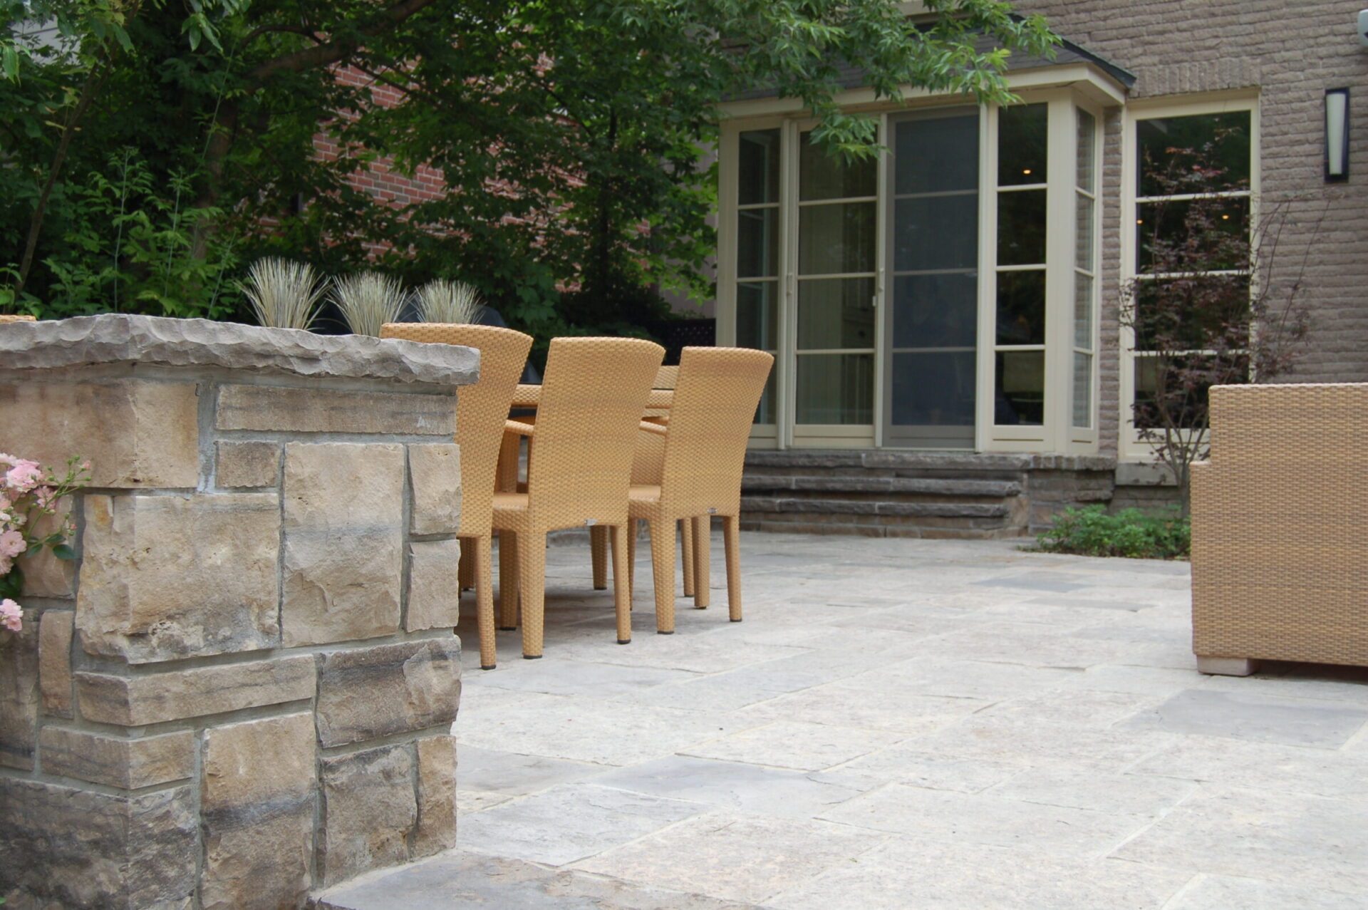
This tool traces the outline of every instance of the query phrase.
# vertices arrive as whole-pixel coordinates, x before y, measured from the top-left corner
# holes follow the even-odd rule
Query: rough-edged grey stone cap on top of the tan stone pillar
[[[5,323],[0,356],[10,369],[138,363],[440,386],[471,385],[480,368],[480,352],[457,345],[127,313]]]

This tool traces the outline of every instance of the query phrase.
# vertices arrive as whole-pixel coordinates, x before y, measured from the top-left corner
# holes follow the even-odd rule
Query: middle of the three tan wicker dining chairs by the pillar
[[[632,640],[627,493],[632,442],[665,349],[636,338],[555,338],[529,437],[525,493],[494,495],[505,625],[523,608],[523,657],[542,655],[546,532],[603,525],[613,545],[617,640]]]

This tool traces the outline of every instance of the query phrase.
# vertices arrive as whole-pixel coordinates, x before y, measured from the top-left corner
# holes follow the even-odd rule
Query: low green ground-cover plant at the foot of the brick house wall
[[[1123,509],[1108,515],[1100,505],[1066,509],[1055,524],[1036,536],[1047,553],[1122,556],[1135,560],[1186,560],[1192,528],[1186,516],[1145,515]]]

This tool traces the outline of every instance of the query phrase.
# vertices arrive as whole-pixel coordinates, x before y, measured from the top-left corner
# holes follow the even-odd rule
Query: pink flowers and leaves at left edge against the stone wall
[[[64,497],[90,483],[90,464],[74,456],[67,460],[66,471],[57,473],[36,461],[0,453],[0,471],[4,471],[0,476],[0,597],[4,598],[0,621],[4,628],[18,632],[23,614],[11,599],[23,591],[18,560],[44,547],[59,560],[75,558],[67,545],[67,538],[75,532],[71,517],[56,530],[44,525],[42,519],[56,516]]]

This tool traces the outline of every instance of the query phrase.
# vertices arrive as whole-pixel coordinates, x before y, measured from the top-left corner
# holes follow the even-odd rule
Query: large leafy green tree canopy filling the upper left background
[[[141,282],[129,305],[164,311],[145,286],[163,250],[130,261],[112,223],[81,215],[92,193],[127,207],[130,193],[112,192],[115,151],[145,168],[144,201],[163,207],[148,230],[161,224],[192,259],[269,252],[338,271],[379,246],[380,267],[473,282],[542,334],[639,324],[653,283],[707,293],[698,265],[715,245],[715,190],[696,161],[729,93],[799,97],[830,153],[860,157],[878,151],[874,122],[836,105],[843,64],[889,99],[912,85],[1005,101],[1008,53],[1057,41],[996,0],[928,5],[938,15],[912,26],[892,0],[10,3],[0,52],[15,62],[16,100],[0,126],[0,196],[16,201],[0,208],[0,263],[45,313],[70,311],[62,270],[93,256]],[[16,37],[40,14],[77,41],[75,56]],[[105,19],[119,30],[92,25]],[[73,90],[86,83],[78,111]],[[21,104],[38,112],[19,116]],[[63,112],[78,129],[52,126]],[[320,129],[335,156],[319,155]],[[379,204],[352,179],[373,161],[435,167],[451,189]],[[36,207],[45,182],[51,204]],[[37,237],[27,267],[11,235]],[[207,305],[216,281],[211,270],[179,286]],[[569,312],[557,309],[565,289],[581,290]]]

